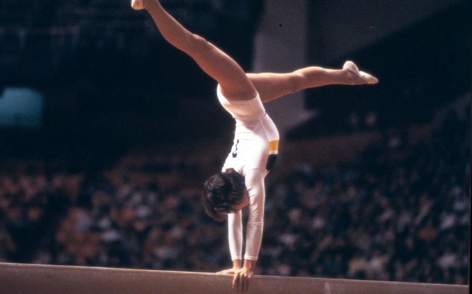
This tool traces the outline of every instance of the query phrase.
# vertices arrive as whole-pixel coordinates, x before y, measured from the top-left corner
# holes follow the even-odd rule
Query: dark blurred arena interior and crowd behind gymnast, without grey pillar
[[[161,2],[251,71],[270,1]],[[294,2],[306,65],[352,59],[380,83],[306,91],[266,180],[258,274],[467,284],[470,3]],[[226,267],[200,203],[233,135],[215,86],[128,0],[2,0],[0,261]]]

